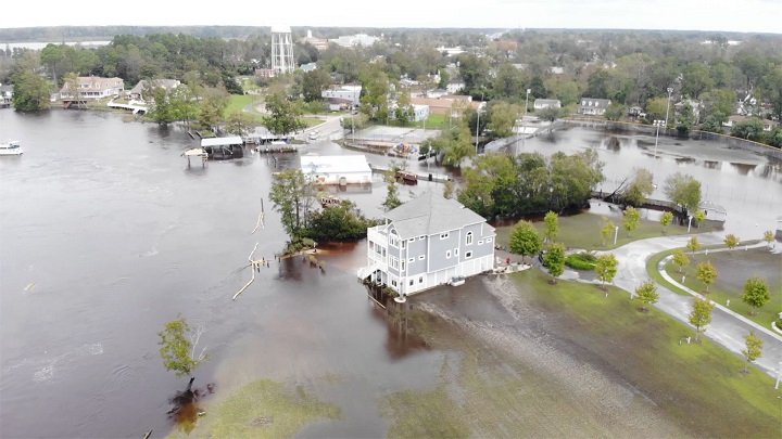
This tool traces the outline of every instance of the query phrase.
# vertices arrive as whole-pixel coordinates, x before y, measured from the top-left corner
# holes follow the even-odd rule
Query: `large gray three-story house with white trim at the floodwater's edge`
[[[358,277],[370,277],[411,295],[494,267],[496,233],[483,217],[429,191],[386,212],[367,230],[367,260]]]

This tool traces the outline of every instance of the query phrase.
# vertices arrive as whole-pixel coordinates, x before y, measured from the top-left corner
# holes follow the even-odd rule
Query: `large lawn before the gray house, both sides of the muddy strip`
[[[525,307],[559,328],[551,343],[578,351],[576,358],[593,359],[592,366],[633,389],[622,404],[659,410],[683,436],[779,435],[782,392],[773,389],[773,379],[754,366],[748,375],[741,374],[745,361],[708,339],[680,345],[682,337],[694,335],[686,325],[653,307],[640,312],[640,304],[615,287],[605,297],[596,285],[566,281],[551,285],[537,269],[509,279]],[[515,354],[476,340],[469,328],[426,315],[416,317],[413,325],[428,346],[449,353],[430,388],[378,400],[390,438],[649,435],[645,425],[623,431],[605,424],[592,401],[572,395],[576,389],[557,384],[552,374],[530,367]]]

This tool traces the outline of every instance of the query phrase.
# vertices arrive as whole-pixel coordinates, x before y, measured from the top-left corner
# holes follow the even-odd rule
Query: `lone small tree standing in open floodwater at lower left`
[[[166,323],[165,330],[157,333],[160,336],[157,345],[161,346],[160,353],[166,371],[175,371],[177,377],[190,376],[195,367],[209,360],[206,347],[195,357],[195,347],[203,333],[203,326],[191,328],[181,314]]]

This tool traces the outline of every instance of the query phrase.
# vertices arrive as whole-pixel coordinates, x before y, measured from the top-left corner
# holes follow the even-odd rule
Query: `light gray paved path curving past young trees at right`
[[[703,245],[722,244],[722,236],[717,233],[706,233],[697,235]],[[611,250],[619,260],[619,272],[614,280],[614,285],[627,290],[632,297],[635,288],[642,283],[649,280],[646,273],[646,261],[660,251],[677,247],[684,247],[691,235],[663,236],[648,240],[635,241],[622,247]],[[715,251],[715,250],[711,250]],[[661,271],[663,272],[663,271]],[[667,274],[664,274],[667,276]],[[690,293],[692,296],[682,296],[671,292],[663,285],[657,285],[659,293],[659,301],[655,304],[659,310],[670,314],[677,320],[690,325],[690,313],[692,312],[693,296],[702,297],[699,294],[679,285],[670,277],[666,277],[668,282],[681,287],[682,290]],[[755,331],[756,335],[765,340],[762,357],[758,359],[757,364],[764,372],[777,377],[778,367],[782,362],[782,336],[774,333],[773,330],[764,327],[751,320],[740,315],[720,304],[711,313],[711,324],[706,326],[704,335],[711,340],[722,345],[729,350],[743,357],[741,351],[746,349],[744,336],[751,331]],[[693,335],[695,334],[693,330]]]

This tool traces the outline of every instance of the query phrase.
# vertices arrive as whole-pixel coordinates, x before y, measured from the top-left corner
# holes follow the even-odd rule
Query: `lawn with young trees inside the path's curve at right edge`
[[[694,258],[688,254],[688,257],[690,257],[690,264],[683,268],[682,273],[679,273],[679,266],[673,261],[666,263],[666,272],[678,282],[681,282],[683,275],[684,286],[705,294],[706,284],[697,280],[695,268],[698,263],[709,260],[720,274],[717,282],[709,287],[707,296],[720,305],[727,305],[730,300],[730,309],[733,311],[765,327],[771,327],[771,322],[782,311],[782,280],[780,279],[782,256],[771,254],[766,248],[754,248],[746,251],[734,249],[709,255],[696,254]],[[657,271],[656,266],[655,271]],[[758,309],[756,315],[751,315],[749,306],[741,300],[744,282],[753,275],[766,279],[771,293],[771,300]]]

